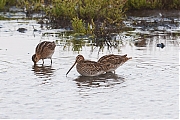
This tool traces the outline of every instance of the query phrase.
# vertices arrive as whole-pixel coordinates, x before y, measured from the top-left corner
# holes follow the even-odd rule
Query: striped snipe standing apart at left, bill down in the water
[[[43,41],[36,46],[35,54],[32,56],[32,61],[36,64],[40,59],[42,59],[44,64],[44,59],[51,59],[54,54],[56,44],[55,42]]]

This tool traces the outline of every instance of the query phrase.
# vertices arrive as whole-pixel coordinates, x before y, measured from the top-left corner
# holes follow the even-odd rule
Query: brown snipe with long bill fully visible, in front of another
[[[76,65],[77,72],[81,74],[82,76],[98,76],[100,74],[105,73],[103,64],[95,62],[95,61],[85,60],[82,55],[78,55],[76,57],[75,63],[66,73],[66,76],[75,65]]]

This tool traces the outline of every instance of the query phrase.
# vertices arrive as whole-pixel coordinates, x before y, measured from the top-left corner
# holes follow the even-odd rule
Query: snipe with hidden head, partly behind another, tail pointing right
[[[132,59],[132,57],[127,57],[127,54],[125,55],[114,55],[114,54],[110,54],[110,55],[105,55],[102,56],[97,62],[98,63],[103,63],[103,64],[107,64],[106,65],[106,72],[112,72],[119,67],[121,65],[123,65],[125,62],[127,62],[129,59]]]

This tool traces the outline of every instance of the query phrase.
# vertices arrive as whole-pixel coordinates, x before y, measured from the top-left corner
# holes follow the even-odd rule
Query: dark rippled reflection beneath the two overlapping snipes
[[[119,77],[112,72],[93,77],[79,76],[74,79],[78,87],[110,87],[121,84],[124,80],[125,78]]]

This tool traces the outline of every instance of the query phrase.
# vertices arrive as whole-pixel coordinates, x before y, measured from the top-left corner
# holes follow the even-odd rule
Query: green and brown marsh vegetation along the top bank
[[[41,13],[39,23],[46,23],[49,28],[65,28],[76,35],[106,39],[111,33],[122,32],[125,12],[180,9],[180,0],[1,0],[1,11],[10,6],[22,8],[27,18]]]

